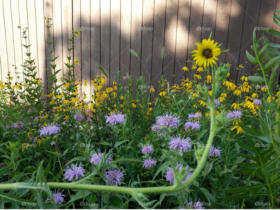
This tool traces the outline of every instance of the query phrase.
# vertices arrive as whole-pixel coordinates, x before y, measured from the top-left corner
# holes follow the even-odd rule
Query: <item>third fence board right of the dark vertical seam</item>
[[[100,75],[98,66],[100,64],[100,1],[90,1],[90,53],[91,53],[91,80],[97,74]],[[91,94],[94,93],[94,84],[91,84]]]

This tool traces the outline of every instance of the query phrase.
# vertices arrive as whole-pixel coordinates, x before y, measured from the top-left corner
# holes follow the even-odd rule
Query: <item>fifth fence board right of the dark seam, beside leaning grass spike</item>
[[[120,70],[120,0],[111,1],[110,51],[110,86],[113,86]]]

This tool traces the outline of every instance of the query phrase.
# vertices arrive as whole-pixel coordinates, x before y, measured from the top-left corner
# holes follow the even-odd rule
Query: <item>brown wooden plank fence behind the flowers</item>
[[[143,75],[156,89],[162,74],[171,83],[180,83],[185,76],[181,68],[186,60],[192,60],[189,52],[195,49],[194,41],[202,41],[212,32],[215,41],[230,50],[219,61],[232,64],[231,78],[236,80],[237,74],[255,71],[250,63],[235,71],[239,64],[245,65],[246,50],[251,52],[253,29],[259,27],[258,37],[263,34],[262,27],[278,30],[272,20],[276,8],[280,8],[280,0],[0,0],[1,80],[6,80],[8,71],[15,76],[13,64],[20,71],[26,59],[20,25],[29,28],[31,58],[46,84],[49,49],[44,42],[48,38],[44,17],[53,20],[50,38],[55,40],[53,51],[59,56],[56,69],[62,69],[60,76],[67,74],[63,64],[69,54],[67,38],[75,29],[82,30],[72,55],[80,61],[75,67],[77,79],[90,81],[100,74],[101,64],[111,83],[118,71],[121,76],[128,72],[134,84]],[[142,63],[129,49],[137,52]],[[188,77],[192,74],[187,72]],[[89,93],[90,88],[86,89]]]

